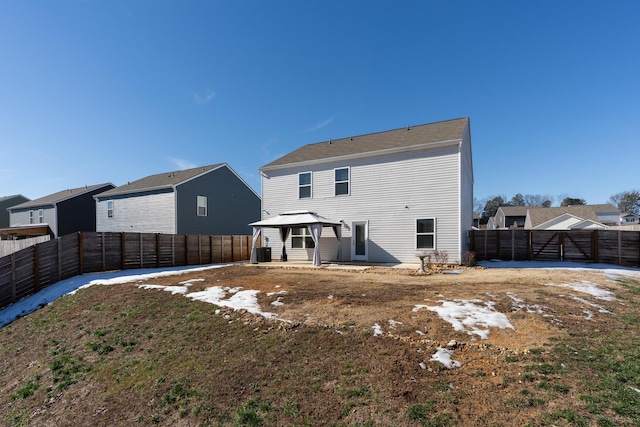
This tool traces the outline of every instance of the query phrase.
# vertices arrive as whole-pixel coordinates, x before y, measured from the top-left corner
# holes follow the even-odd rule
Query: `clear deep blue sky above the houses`
[[[0,196],[470,117],[474,196],[640,187],[640,2],[0,2]]]

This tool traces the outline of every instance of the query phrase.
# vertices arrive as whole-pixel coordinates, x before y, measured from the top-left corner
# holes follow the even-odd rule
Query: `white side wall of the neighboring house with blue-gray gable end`
[[[112,218],[107,214],[108,201],[96,202],[96,231],[176,233],[173,192],[129,196],[113,201]]]

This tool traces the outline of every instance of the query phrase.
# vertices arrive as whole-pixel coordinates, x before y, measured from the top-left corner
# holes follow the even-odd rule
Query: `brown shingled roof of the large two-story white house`
[[[308,144],[262,166],[260,170],[354,155],[373,155],[428,147],[429,145],[438,146],[438,143],[454,143],[464,137],[468,124],[469,118],[465,117]]]

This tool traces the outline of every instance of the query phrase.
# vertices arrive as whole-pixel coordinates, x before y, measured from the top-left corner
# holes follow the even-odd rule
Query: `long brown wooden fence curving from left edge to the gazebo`
[[[0,309],[84,273],[246,261],[251,236],[79,232],[0,258]]]

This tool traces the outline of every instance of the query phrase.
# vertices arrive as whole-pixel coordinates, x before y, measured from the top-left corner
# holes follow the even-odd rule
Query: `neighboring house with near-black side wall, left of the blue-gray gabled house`
[[[96,204],[93,196],[114,188],[98,184],[63,190],[9,208],[9,229],[3,234],[60,237],[77,231],[96,231]],[[47,230],[48,228],[48,230]]]

